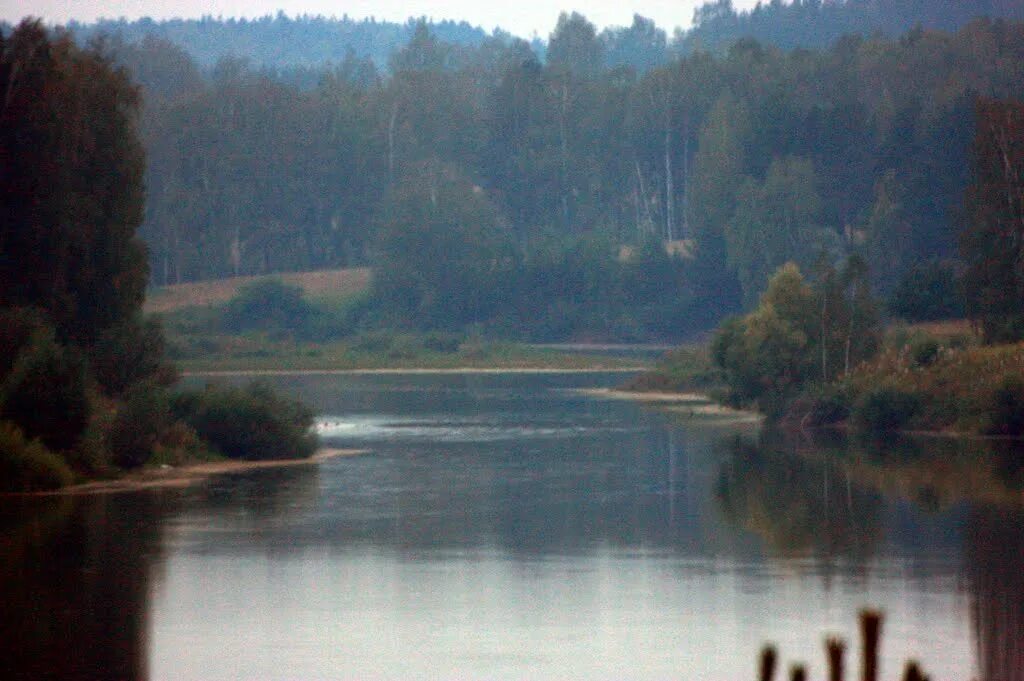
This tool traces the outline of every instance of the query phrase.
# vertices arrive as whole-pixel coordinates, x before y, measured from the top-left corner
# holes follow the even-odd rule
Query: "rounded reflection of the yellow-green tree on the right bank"
[[[717,495],[723,514],[783,556],[858,562],[882,538],[883,500],[842,467],[794,454],[771,435],[725,441]]]

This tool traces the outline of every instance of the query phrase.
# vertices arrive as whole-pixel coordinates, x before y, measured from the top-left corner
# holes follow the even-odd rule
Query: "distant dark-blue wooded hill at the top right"
[[[827,47],[846,35],[899,36],[921,27],[957,31],[972,19],[1024,19],[1024,0],[766,0],[736,11],[732,0],[707,2],[674,48],[719,51],[743,38],[780,47]]]

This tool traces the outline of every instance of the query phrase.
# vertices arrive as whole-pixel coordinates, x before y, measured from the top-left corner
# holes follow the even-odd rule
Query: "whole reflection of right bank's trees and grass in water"
[[[721,446],[723,512],[778,555],[865,565],[887,539],[887,507],[902,500],[924,517],[963,515],[962,546],[950,550],[963,552],[979,679],[1024,680],[1020,443],[765,432]],[[890,534],[905,535],[901,524]]]

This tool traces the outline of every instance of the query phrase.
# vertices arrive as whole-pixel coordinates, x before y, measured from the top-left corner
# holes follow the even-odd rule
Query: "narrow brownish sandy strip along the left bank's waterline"
[[[141,492],[145,490],[180,490],[208,480],[215,475],[245,473],[265,468],[288,468],[295,466],[317,465],[338,457],[354,457],[368,454],[368,450],[331,450],[323,449],[308,459],[274,459],[272,461],[210,461],[201,464],[190,464],[178,468],[147,468],[125,477],[114,480],[96,480],[73,484],[52,492],[34,492],[9,496],[18,497],[52,497],[77,495],[109,495],[122,492]],[[7,495],[4,495],[7,496]]]

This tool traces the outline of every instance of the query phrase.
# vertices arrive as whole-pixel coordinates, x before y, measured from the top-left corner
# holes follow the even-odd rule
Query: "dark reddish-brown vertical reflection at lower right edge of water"
[[[965,549],[981,681],[1024,681],[1024,516],[975,509]]]

